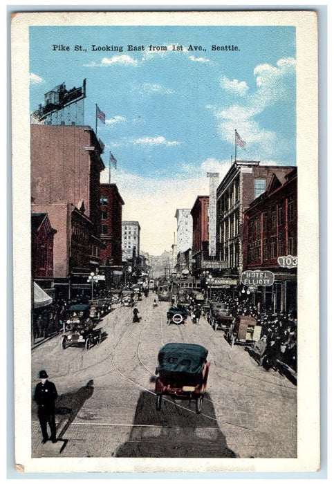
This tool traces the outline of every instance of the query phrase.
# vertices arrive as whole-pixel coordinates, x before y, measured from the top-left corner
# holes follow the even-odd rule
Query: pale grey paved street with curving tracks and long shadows
[[[242,346],[233,348],[201,317],[198,326],[167,325],[167,302],[153,294],[132,308],[115,306],[99,326],[104,340],[89,351],[61,348],[60,335],[33,350],[32,390],[40,369],[55,382],[57,444],[41,445],[32,405],[33,457],[295,458],[297,387],[264,371]],[[167,342],[202,344],[212,362],[203,410],[163,399],[156,411],[154,372]]]

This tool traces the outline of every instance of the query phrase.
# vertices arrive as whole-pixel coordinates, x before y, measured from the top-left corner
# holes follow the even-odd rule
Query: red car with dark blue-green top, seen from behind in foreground
[[[196,413],[201,413],[209,369],[207,349],[204,346],[165,344],[158,353],[156,409],[161,409],[163,395],[167,395],[173,399],[195,400]]]

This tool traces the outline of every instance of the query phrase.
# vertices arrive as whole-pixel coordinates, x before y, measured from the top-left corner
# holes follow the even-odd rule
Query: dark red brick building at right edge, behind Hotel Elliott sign
[[[273,286],[255,294],[272,312],[297,310],[297,268],[282,267],[279,257],[297,256],[297,168],[285,176],[272,174],[268,189],[244,213],[243,267],[270,270]]]

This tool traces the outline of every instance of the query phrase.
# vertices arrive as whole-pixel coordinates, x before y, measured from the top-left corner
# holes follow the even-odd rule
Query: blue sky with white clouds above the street
[[[57,84],[86,79],[84,122],[95,129],[95,104],[106,115],[98,138],[105,165],[109,151],[118,160],[111,182],[123,218],[139,221],[142,250],[160,254],[174,241],[176,208],[208,194],[207,171],[222,179],[230,168],[234,129],[246,143],[239,159],[295,165],[295,49],[288,26],[30,27],[30,110]]]

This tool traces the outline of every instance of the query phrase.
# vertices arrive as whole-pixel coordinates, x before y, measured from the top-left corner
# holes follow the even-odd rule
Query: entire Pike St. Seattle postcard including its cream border
[[[317,472],[317,14],[11,19],[15,466]]]

